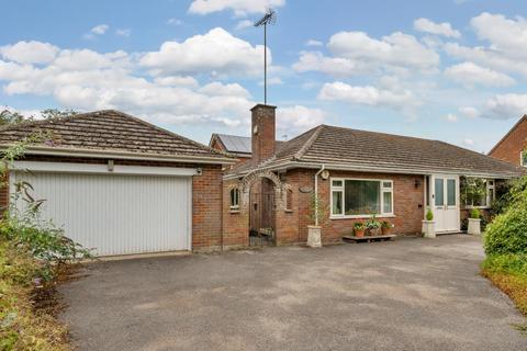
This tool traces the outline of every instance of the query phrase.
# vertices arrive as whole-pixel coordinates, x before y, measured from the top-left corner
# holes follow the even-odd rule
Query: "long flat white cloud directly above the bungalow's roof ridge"
[[[390,106],[405,109],[415,105],[415,99],[410,91],[393,92],[375,87],[354,87],[344,82],[325,83],[318,99],[326,101],[343,101],[351,104],[370,106]]]

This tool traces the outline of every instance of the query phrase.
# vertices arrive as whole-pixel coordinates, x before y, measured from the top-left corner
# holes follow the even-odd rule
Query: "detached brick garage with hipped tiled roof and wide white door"
[[[44,218],[99,256],[221,247],[222,167],[236,159],[111,110],[10,125],[0,144],[30,135],[41,138],[10,170],[4,208],[27,181]]]

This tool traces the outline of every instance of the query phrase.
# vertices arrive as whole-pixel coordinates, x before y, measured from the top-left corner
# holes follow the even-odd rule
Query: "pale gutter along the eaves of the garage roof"
[[[0,149],[7,148],[1,145]],[[89,157],[89,158],[114,158],[127,160],[152,160],[152,161],[172,161],[186,163],[205,163],[205,165],[234,165],[235,159],[227,157],[208,157],[208,156],[188,156],[188,155],[161,155],[161,154],[142,154],[117,150],[93,150],[80,148],[57,148],[32,146],[25,151],[25,155],[45,155],[64,157]]]

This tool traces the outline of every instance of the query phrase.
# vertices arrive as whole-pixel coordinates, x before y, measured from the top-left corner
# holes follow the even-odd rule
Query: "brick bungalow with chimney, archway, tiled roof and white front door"
[[[250,245],[255,235],[277,245],[305,242],[314,199],[325,210],[318,224],[326,244],[372,214],[392,223],[395,234],[421,234],[426,208],[438,233],[457,233],[467,208],[486,208],[496,182],[522,174],[444,141],[328,125],[277,149],[274,121],[274,106],[251,109],[251,159],[224,176],[226,246]],[[468,191],[473,183],[480,189]]]

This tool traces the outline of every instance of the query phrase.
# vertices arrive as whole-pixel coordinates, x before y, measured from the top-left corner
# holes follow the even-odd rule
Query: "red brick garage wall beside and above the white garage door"
[[[32,155],[27,155],[23,160],[96,165],[108,163],[108,159],[102,158]],[[202,251],[220,248],[223,231],[223,172],[221,165],[117,159],[114,160],[114,163],[123,166],[201,168],[202,174],[192,177],[192,250]],[[0,205],[2,208],[7,208],[9,203],[9,190],[5,189],[5,186],[0,189]],[[175,201],[177,201],[177,199],[175,199]]]

